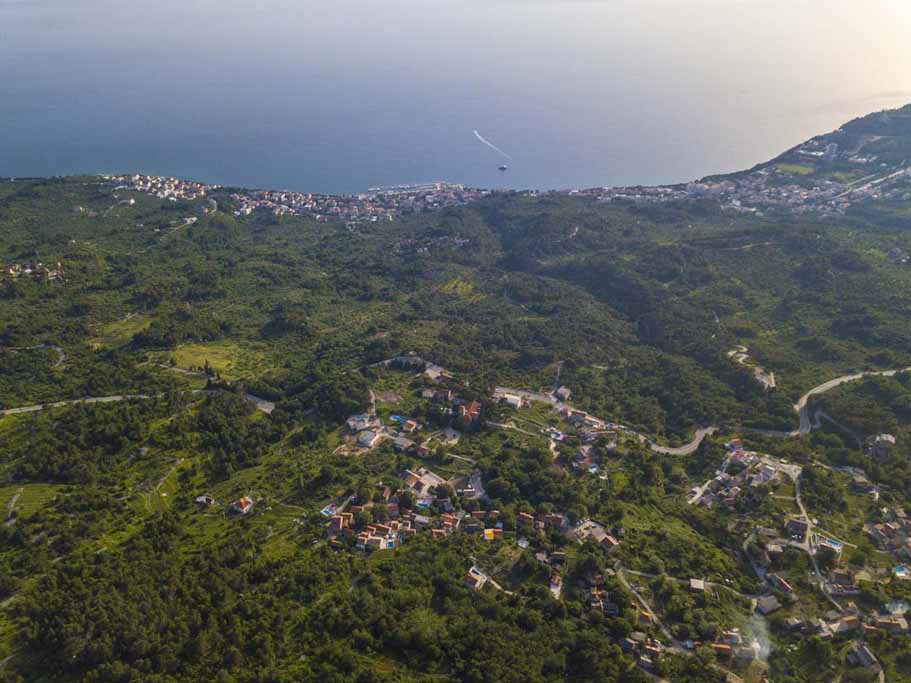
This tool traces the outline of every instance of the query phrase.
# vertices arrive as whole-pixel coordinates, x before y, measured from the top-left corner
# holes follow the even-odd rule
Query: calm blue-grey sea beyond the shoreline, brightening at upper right
[[[681,182],[911,102],[909,35],[907,0],[0,0],[0,176]]]

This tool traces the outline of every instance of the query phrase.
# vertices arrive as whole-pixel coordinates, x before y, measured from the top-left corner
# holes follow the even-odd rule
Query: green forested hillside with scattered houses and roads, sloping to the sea
[[[890,176],[909,115],[748,175]],[[906,680],[905,179],[750,182],[0,183],[0,679],[822,681],[856,612]]]

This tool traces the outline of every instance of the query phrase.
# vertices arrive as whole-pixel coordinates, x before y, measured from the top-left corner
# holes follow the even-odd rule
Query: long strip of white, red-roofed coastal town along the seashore
[[[460,206],[487,196],[511,194],[582,196],[599,202],[636,204],[713,201],[723,209],[762,216],[774,213],[844,215],[867,201],[911,199],[911,160],[882,158],[871,147],[881,136],[844,137],[839,129],[789,150],[749,171],[664,186],[593,187],[556,191],[491,190],[450,182],[370,188],[354,195],[326,195],[283,190],[232,190],[235,216],[264,211],[276,216],[302,215],[350,225],[390,221],[400,216]],[[117,190],[132,190],[168,201],[189,201],[222,190],[218,185],[142,174],[106,176]]]

